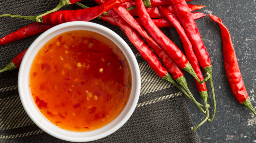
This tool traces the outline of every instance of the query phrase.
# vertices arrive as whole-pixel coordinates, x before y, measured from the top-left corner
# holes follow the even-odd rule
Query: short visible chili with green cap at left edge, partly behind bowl
[[[20,67],[20,63],[21,63],[21,60],[24,56],[24,54],[26,53],[27,49],[22,51],[20,54],[18,54],[17,56],[15,56],[11,62],[5,67],[3,68],[2,70],[0,70],[0,73],[1,72],[4,72],[4,71],[11,71],[11,70],[15,70],[17,68]]]

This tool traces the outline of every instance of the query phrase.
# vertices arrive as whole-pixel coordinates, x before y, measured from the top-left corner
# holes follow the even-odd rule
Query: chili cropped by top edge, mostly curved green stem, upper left
[[[45,15],[47,15],[47,14],[49,14],[49,13],[52,13],[52,12],[54,12],[54,11],[57,11],[57,10],[59,10],[61,7],[64,7],[64,6],[67,6],[67,5],[72,5],[72,4],[74,4],[75,2],[78,2],[78,1],[81,1],[81,0],[60,0],[59,3],[58,3],[58,5],[57,5],[55,8],[53,8],[52,10],[47,11],[47,12],[45,12],[45,13],[43,13],[43,14],[37,15],[37,16],[35,17],[35,21],[36,21],[36,22],[41,22],[41,17],[42,17],[42,16],[45,16]]]

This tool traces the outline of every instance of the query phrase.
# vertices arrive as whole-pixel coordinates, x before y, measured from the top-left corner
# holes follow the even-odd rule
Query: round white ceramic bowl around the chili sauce
[[[57,127],[41,114],[36,104],[34,103],[32,95],[30,94],[29,73],[30,73],[32,61],[36,56],[37,52],[39,51],[39,49],[48,40],[52,39],[54,36],[57,36],[67,31],[73,31],[73,30],[88,30],[88,31],[97,32],[109,38],[110,40],[112,40],[123,52],[124,56],[128,61],[128,64],[130,65],[131,73],[132,73],[131,75],[132,75],[133,83],[132,83],[131,95],[123,111],[112,122],[93,131],[75,132],[75,131],[68,131],[68,130]],[[132,50],[127,45],[127,43],[112,30],[102,25],[91,23],[91,22],[81,22],[81,21],[68,22],[64,24],[59,24],[47,30],[46,32],[42,33],[28,48],[19,68],[18,90],[19,90],[21,103],[25,111],[27,112],[29,117],[33,120],[33,122],[43,131],[45,131],[46,133],[56,138],[66,140],[66,141],[73,141],[73,142],[93,141],[114,133],[131,117],[139,100],[139,93],[140,93],[139,65]]]

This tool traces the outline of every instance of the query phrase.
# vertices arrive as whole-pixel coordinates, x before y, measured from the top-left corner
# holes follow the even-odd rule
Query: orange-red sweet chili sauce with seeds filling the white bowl
[[[131,72],[108,38],[77,30],[48,41],[31,66],[31,94],[53,124],[72,131],[100,128],[123,110]]]

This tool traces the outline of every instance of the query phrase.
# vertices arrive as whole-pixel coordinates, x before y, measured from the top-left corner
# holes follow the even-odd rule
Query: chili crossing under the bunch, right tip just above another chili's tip
[[[165,7],[168,7],[169,11],[172,12],[173,14],[176,14],[175,9],[173,8],[173,5],[166,5]],[[201,8],[204,8],[205,6],[200,6],[200,5],[191,5],[188,4],[188,7],[190,11],[198,10]],[[163,12],[159,9],[159,7],[151,7],[151,8],[146,8],[148,14],[150,15],[151,18],[163,18],[166,17]],[[129,12],[133,16],[139,16],[137,8],[129,10]]]

